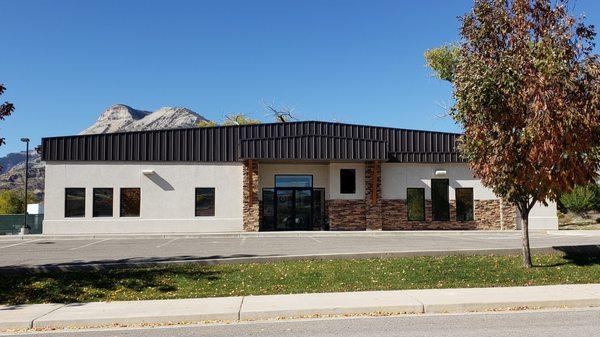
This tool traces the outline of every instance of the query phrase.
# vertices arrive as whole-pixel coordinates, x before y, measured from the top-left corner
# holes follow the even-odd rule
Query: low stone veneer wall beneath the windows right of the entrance
[[[425,221],[408,221],[406,200],[383,200],[384,230],[469,230],[469,229],[515,229],[516,207],[503,203],[503,221],[501,225],[499,200],[475,200],[474,220],[456,220],[456,201],[450,201],[450,221],[433,221],[431,200],[425,201]]]

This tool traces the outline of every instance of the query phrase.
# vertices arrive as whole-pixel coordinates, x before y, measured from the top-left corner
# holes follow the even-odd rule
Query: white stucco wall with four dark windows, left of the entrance
[[[144,176],[143,170],[155,175]],[[240,163],[46,163],[45,234],[242,230]],[[65,218],[65,188],[86,188],[84,218]],[[113,217],[92,217],[94,187],[112,187]],[[121,187],[141,188],[140,217],[119,217]],[[195,188],[215,188],[215,216],[195,216]]]

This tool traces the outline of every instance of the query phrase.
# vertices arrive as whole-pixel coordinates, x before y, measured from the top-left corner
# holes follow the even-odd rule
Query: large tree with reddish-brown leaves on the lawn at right
[[[425,55],[454,86],[450,114],[465,131],[462,155],[519,211],[526,267],[533,206],[593,182],[600,161],[596,34],[567,4],[475,0],[460,44]]]

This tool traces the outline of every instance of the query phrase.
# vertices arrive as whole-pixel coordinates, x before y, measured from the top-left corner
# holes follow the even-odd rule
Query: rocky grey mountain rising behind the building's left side
[[[115,104],[104,110],[96,122],[80,134],[190,128],[205,120],[203,116],[182,107],[164,107],[149,112],[136,110],[124,104]],[[0,158],[0,166],[0,190],[24,187],[25,151],[10,153]],[[35,150],[29,152],[29,186],[38,199],[42,200],[44,162]]]

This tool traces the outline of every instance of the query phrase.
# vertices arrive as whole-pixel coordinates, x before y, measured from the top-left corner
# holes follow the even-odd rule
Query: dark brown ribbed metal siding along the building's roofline
[[[79,135],[42,139],[45,161],[252,159],[460,162],[460,135],[329,122]],[[241,149],[241,150],[240,150]]]

